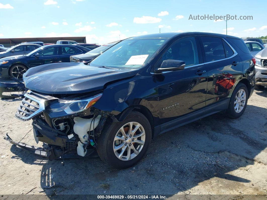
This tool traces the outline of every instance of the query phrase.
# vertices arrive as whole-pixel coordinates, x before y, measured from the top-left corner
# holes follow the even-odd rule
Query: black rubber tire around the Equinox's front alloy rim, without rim
[[[113,151],[114,138],[119,129],[128,122],[137,122],[143,126],[145,131],[145,142],[142,150],[138,155],[136,155],[136,157],[132,158],[131,160],[120,160]],[[152,131],[148,119],[142,113],[132,111],[122,122],[105,124],[105,128],[98,138],[97,153],[101,160],[114,168],[128,168],[143,158],[150,145],[151,136]]]

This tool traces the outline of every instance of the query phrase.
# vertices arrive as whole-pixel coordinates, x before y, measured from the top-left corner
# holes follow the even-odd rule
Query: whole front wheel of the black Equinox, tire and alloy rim
[[[106,124],[97,145],[99,157],[115,168],[128,168],[141,160],[151,142],[151,126],[140,112],[132,111],[119,123]]]

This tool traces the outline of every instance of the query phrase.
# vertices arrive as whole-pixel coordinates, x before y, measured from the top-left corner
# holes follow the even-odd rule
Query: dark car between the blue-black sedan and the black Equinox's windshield
[[[85,54],[79,54],[76,56],[70,56],[70,62],[87,62],[90,60],[93,60],[95,57],[97,57],[99,54],[103,53],[108,48],[115,45],[117,42],[111,43],[111,44],[105,44],[102,46],[99,46],[90,52],[87,52]]]

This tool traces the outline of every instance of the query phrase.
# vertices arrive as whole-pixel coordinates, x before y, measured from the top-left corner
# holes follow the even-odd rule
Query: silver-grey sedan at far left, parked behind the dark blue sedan
[[[0,52],[0,58],[24,55],[38,49],[41,45],[38,44],[19,44],[7,49],[6,51]]]

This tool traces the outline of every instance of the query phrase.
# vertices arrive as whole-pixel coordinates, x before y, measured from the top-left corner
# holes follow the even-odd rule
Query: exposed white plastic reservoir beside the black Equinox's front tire
[[[73,126],[73,131],[74,133],[76,133],[79,138],[80,141],[78,142],[78,147],[77,147],[77,154],[80,156],[85,156],[85,154],[87,153],[87,150],[85,150],[84,152],[84,148],[83,148],[83,144],[82,143],[87,143],[88,140],[88,134],[87,131],[92,131],[93,128],[96,128],[99,120],[101,118],[101,115],[98,115],[95,120],[94,117],[92,117],[91,119],[84,119],[81,117],[74,117],[74,126]],[[93,122],[92,122],[93,120]],[[92,125],[91,125],[92,122]],[[91,125],[91,128],[90,128]],[[89,130],[90,129],[90,130]],[[81,143],[82,142],[82,143]]]

